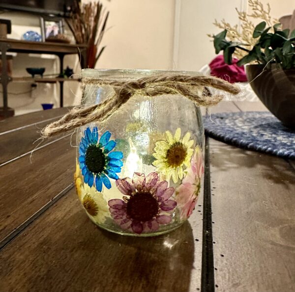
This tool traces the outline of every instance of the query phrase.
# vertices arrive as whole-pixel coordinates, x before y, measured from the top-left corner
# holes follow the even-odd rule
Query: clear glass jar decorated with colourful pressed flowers
[[[176,71],[84,69],[82,77],[133,81],[163,73]],[[110,85],[86,84],[82,104],[99,104],[112,92]],[[200,108],[181,95],[133,96],[106,122],[80,127],[75,185],[87,215],[124,235],[179,227],[200,192],[203,140]]]

